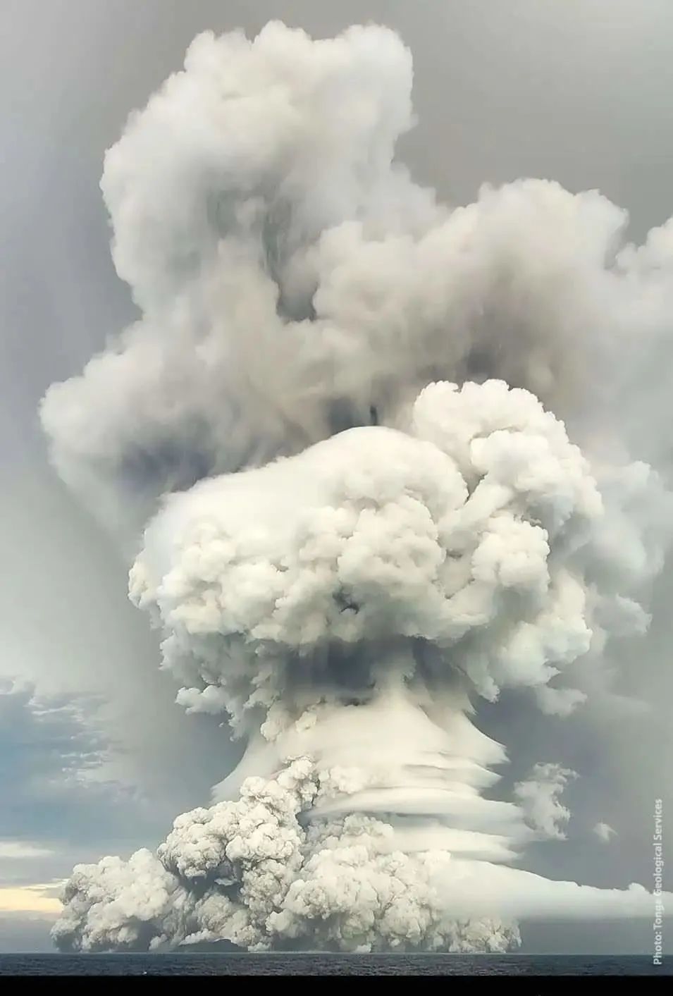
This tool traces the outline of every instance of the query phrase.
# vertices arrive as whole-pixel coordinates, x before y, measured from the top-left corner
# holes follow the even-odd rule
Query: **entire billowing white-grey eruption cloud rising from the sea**
[[[178,702],[247,749],[155,855],[75,870],[62,947],[505,950],[520,918],[651,914],[513,867],[564,836],[573,773],[488,799],[505,753],[470,717],[503,688],[567,714],[647,626],[671,505],[629,454],[665,456],[673,228],[623,245],[546,181],[438,206],[393,159],[410,92],[381,28],[204,34],[108,152],[142,317],[43,423],[143,530]]]

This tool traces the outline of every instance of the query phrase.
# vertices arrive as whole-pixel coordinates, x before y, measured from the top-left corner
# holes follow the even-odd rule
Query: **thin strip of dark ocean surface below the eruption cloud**
[[[0,954],[0,975],[670,975],[650,955]]]

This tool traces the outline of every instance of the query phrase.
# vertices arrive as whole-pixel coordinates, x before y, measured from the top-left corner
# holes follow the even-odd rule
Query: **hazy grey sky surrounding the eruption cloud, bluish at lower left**
[[[414,57],[417,126],[400,156],[450,203],[518,176],[599,188],[638,238],[673,213],[673,7],[668,0],[5,0],[0,66],[0,950],[49,949],[58,883],[78,861],[153,846],[206,802],[238,748],[184,715],[155,637],[125,597],[126,565],[49,466],[37,406],[134,317],[110,257],[99,180],[127,114],[199,31],[269,19],[317,37],[375,21]],[[549,724],[549,760],[580,772],[568,840],[529,868],[596,885],[649,880],[651,812],[670,798],[668,569],[652,629],[620,654],[642,712]],[[629,668],[622,671],[627,695]],[[539,758],[507,696],[479,715],[512,758]],[[514,730],[514,735],[513,731]],[[547,760],[547,759],[544,759]],[[672,800],[673,801],[673,800]],[[594,834],[604,822],[617,836]],[[644,933],[643,933],[644,929]],[[542,949],[644,949],[647,927],[538,924]]]

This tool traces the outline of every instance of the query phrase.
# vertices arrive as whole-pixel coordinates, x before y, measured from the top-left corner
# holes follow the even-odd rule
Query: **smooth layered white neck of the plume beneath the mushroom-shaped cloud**
[[[379,659],[380,678],[366,700],[322,701],[273,743],[252,738],[216,798],[234,798],[251,774],[271,777],[310,757],[320,788],[306,824],[373,818],[393,828],[381,851],[514,857],[527,837],[519,808],[483,797],[499,779],[490,766],[506,760],[502,747],[471,722],[458,685],[430,695],[409,662],[408,647],[398,646]]]

